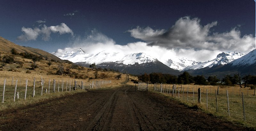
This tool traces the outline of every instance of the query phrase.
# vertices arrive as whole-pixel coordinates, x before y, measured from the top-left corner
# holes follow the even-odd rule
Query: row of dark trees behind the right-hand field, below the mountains
[[[166,83],[166,84],[198,84],[198,85],[234,85],[239,84],[242,87],[242,82],[244,87],[246,84],[256,84],[256,76],[248,75],[240,77],[239,74],[234,76],[226,75],[222,79],[217,78],[217,76],[209,76],[207,79],[204,75],[191,76],[187,71],[180,74],[178,77],[170,74],[162,73],[150,73],[138,76],[139,81],[151,82],[151,83]]]

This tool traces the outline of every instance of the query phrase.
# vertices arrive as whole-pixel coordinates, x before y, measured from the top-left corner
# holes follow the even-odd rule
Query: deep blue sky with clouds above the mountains
[[[0,36],[57,55],[80,47],[146,53],[152,47],[207,61],[222,51],[255,48],[253,0],[1,0],[0,16]]]

